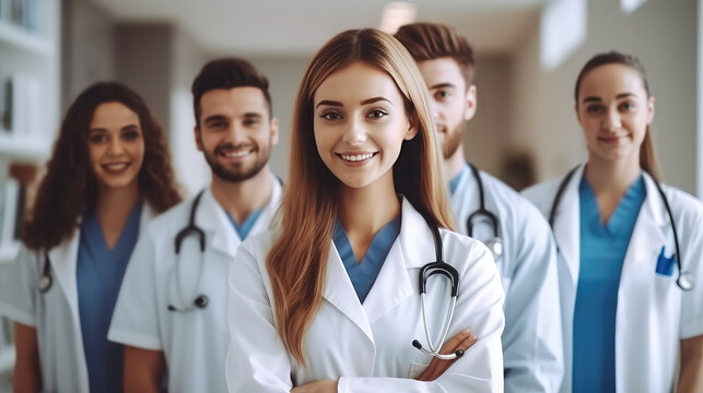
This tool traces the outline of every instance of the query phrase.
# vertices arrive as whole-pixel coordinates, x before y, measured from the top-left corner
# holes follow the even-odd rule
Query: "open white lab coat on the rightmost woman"
[[[554,217],[560,249],[560,291],[564,331],[565,376],[562,392],[572,390],[573,319],[579,269],[578,183],[583,166],[566,186]],[[549,216],[563,178],[525,191]],[[671,276],[656,274],[661,247],[675,252],[666,207],[654,180],[645,172],[646,199],[640,210],[622,264],[616,313],[616,390],[670,392],[678,381],[679,342],[703,334],[703,204],[693,196],[663,184],[676,222],[682,266],[695,276],[695,287],[683,291]]]

